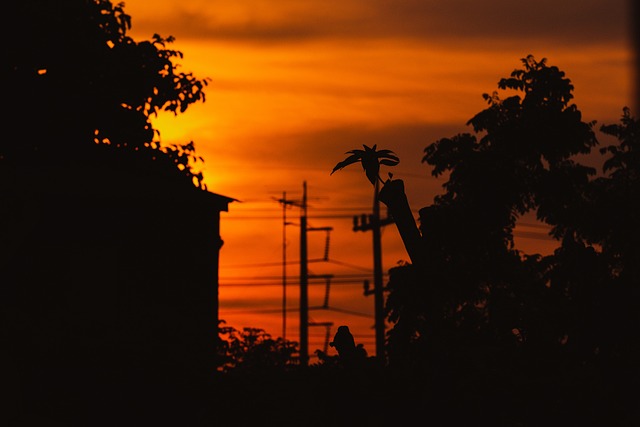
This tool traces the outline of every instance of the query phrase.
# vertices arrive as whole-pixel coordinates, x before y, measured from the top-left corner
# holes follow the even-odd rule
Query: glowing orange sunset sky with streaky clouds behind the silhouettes
[[[371,232],[352,217],[371,212],[373,188],[358,165],[330,175],[345,152],[377,144],[400,164],[414,212],[442,179],[421,163],[424,148],[471,132],[483,93],[533,54],[565,71],[585,121],[616,123],[632,105],[630,2],[625,0],[127,0],[131,36],[174,36],[182,71],[210,78],[206,102],[155,120],[164,144],[193,140],[210,191],[238,199],[222,214],[220,318],[238,329],[283,335],[283,219],[277,199],[300,201],[306,181],[310,273],[334,275],[329,309],[311,322],[350,326],[375,354]],[[632,111],[637,115],[635,109]],[[605,141],[598,134],[601,141]],[[286,338],[298,340],[299,208],[286,211]],[[384,216],[384,209],[383,209]],[[521,250],[548,253],[544,228],[524,218]],[[383,230],[383,269],[408,257],[394,225]],[[324,280],[310,281],[322,306]],[[310,326],[309,353],[325,328]],[[333,349],[328,349],[333,354]]]

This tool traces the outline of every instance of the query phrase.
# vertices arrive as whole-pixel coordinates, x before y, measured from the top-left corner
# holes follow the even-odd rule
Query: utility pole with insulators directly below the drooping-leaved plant
[[[376,330],[376,356],[382,363],[385,360],[384,355],[384,294],[382,283],[382,242],[380,229],[383,225],[393,223],[393,219],[380,218],[380,199],[378,190],[380,184],[376,181],[373,193],[373,215],[360,215],[353,217],[353,231],[373,231],[373,295],[374,295],[374,312],[375,312],[375,330]],[[360,222],[358,221],[360,219]],[[365,284],[365,295],[367,295]]]

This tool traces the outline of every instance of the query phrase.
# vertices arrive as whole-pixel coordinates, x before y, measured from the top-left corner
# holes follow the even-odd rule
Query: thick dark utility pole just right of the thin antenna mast
[[[309,364],[309,269],[307,265],[307,182],[302,188],[300,214],[300,365]]]

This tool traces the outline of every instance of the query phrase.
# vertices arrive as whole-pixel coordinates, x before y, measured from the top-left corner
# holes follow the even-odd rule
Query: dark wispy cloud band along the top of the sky
[[[142,7],[138,0],[128,3]],[[629,39],[631,26],[629,0],[190,0],[157,1],[154,7],[154,14],[134,15],[134,26],[163,28],[181,39],[259,44],[524,39],[580,46],[619,43]]]

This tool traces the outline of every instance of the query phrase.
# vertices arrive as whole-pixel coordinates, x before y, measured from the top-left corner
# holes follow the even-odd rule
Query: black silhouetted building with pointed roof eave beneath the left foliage
[[[234,199],[131,165],[32,166],[33,179],[0,170],[2,362],[15,393],[117,399],[212,372],[220,212]]]

